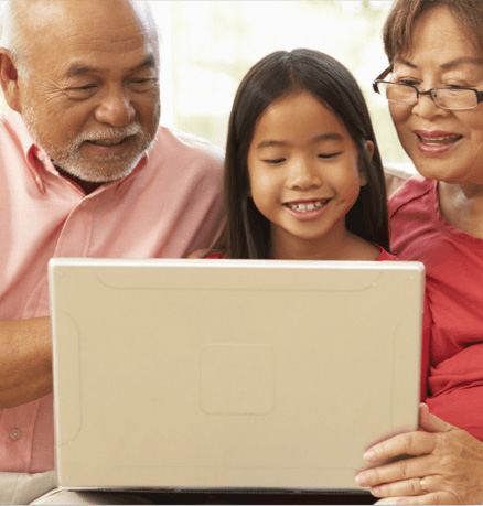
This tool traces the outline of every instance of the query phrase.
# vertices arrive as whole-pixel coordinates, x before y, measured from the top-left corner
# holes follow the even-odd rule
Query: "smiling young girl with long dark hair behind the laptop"
[[[278,51],[242,82],[214,257],[388,260],[379,151],[352,74],[326,54]]]

